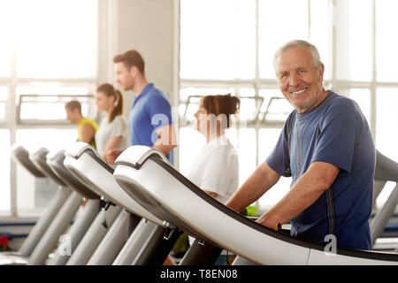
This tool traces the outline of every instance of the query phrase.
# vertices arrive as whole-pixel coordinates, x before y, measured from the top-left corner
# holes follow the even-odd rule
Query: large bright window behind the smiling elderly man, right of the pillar
[[[353,98],[368,119],[377,149],[398,161],[390,126],[398,103],[393,69],[398,40],[390,34],[398,25],[397,9],[394,0],[180,0],[180,119],[189,119],[195,110],[189,96],[231,93],[264,99],[255,123],[227,134],[241,152],[241,184],[272,151],[285,111],[292,109],[283,105],[262,119],[267,102],[283,101],[278,102],[283,96],[273,54],[284,42],[303,39],[318,47],[325,88]],[[201,138],[181,124],[181,171],[190,164],[189,153],[204,144]],[[260,210],[287,192],[290,179],[279,183],[256,203]]]

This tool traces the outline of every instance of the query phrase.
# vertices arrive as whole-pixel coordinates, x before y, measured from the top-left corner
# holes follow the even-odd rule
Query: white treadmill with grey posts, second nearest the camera
[[[85,253],[81,252],[79,256],[73,254],[67,264],[162,264],[179,234],[175,233],[172,236],[162,220],[153,216],[148,210],[143,209],[140,204],[135,203],[114,180],[112,175],[113,168],[106,164],[88,143],[75,142],[73,147],[66,150],[65,156],[65,167],[76,178],[80,178],[89,187],[99,191],[107,202],[123,209],[119,217],[128,214],[135,217],[138,216],[140,219],[127,240],[116,236],[120,232],[110,230],[106,233],[105,238],[114,235],[111,241],[104,238],[89,260],[87,259],[87,254],[91,255],[93,250],[86,247],[87,251]],[[93,224],[93,226],[95,225]],[[90,239],[88,241],[98,243],[95,234],[87,233],[86,237]],[[113,238],[119,238],[119,240]],[[110,242],[112,245],[110,245]],[[105,245],[106,243],[108,244]],[[122,244],[122,247],[120,244]],[[118,246],[118,249],[115,249],[114,246]],[[78,249],[80,249],[80,246]],[[105,252],[107,249],[109,249],[109,252]],[[115,254],[115,252],[117,253]],[[102,255],[101,260],[96,258],[98,253]],[[86,255],[84,260],[74,258],[83,257],[84,255]]]

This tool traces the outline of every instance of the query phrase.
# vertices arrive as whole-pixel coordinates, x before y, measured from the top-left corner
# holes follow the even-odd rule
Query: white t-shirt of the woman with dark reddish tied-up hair
[[[184,175],[197,187],[218,194],[220,203],[226,203],[239,185],[237,151],[221,135],[201,149]]]

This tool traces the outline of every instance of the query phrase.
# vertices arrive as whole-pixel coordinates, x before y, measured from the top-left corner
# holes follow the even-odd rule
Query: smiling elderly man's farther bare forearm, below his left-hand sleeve
[[[249,179],[226,202],[226,206],[236,211],[243,210],[264,195],[268,189],[278,182],[279,178],[279,173],[272,170],[268,164],[265,162],[260,164]]]

